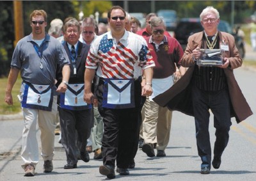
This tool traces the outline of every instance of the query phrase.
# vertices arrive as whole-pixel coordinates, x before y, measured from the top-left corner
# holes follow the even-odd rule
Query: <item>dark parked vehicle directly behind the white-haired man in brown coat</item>
[[[236,41],[236,47],[239,51],[239,54],[242,58],[245,56],[245,49],[244,49],[244,41],[241,40],[241,37],[237,36],[236,33],[232,32],[232,28],[225,20],[220,20],[218,29],[220,31],[225,31],[230,33],[234,36]],[[188,37],[193,35],[194,33],[203,31],[204,28],[201,25],[199,18],[182,18],[180,19],[177,28],[174,30],[173,36],[178,40],[182,49],[185,51],[187,44],[188,44]]]

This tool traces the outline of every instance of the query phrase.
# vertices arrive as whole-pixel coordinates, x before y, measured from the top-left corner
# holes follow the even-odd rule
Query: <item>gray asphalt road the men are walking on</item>
[[[256,72],[246,68],[234,70],[237,82],[248,100],[252,111],[256,110]],[[214,144],[214,128],[211,115],[211,143]],[[211,169],[210,175],[200,174],[200,157],[197,155],[193,117],[173,112],[170,143],[166,157],[149,158],[141,150],[136,155],[136,168],[129,176],[116,175],[116,180],[255,180],[256,178],[256,116],[253,114],[237,124],[232,118],[230,141],[223,153],[220,169]],[[108,180],[100,175],[102,161],[79,161],[76,169],[63,169],[65,152],[56,136],[54,170],[43,173],[43,161],[36,166],[35,177],[24,177],[20,158],[22,120],[0,122],[0,180]],[[40,140],[38,130],[38,140]],[[40,143],[40,142],[39,142]],[[213,146],[212,146],[213,149]]]

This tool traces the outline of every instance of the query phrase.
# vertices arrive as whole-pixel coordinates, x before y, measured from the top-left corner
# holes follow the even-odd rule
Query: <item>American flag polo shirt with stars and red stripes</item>
[[[86,68],[97,69],[97,75],[111,79],[137,79],[142,70],[155,67],[145,39],[125,31],[116,42],[111,31],[98,36],[91,44]]]

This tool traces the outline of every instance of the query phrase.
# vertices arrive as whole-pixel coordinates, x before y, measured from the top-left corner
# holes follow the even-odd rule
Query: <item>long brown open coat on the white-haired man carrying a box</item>
[[[228,92],[231,100],[231,117],[236,117],[237,123],[242,122],[248,116],[252,115],[252,110],[246,102],[244,95],[235,79],[233,69],[241,67],[243,61],[237,51],[234,37],[225,32],[218,32],[220,42],[228,44],[229,51],[225,51],[225,57],[230,61],[230,66],[224,69],[227,77]],[[188,46],[184,56],[180,60],[183,67],[189,67],[186,74],[177,81],[169,90],[153,98],[159,106],[167,106],[170,110],[177,110],[182,113],[193,116],[193,106],[191,100],[191,79],[195,68],[192,51],[196,47],[201,47],[204,31],[189,36]]]

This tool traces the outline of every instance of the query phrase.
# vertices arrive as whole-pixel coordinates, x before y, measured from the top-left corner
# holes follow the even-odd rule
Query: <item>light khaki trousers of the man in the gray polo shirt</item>
[[[52,160],[54,155],[54,130],[56,127],[57,116],[57,96],[54,96],[52,102],[52,111],[42,111],[39,109],[22,108],[24,116],[24,129],[22,132],[22,150],[21,157],[24,161],[22,168],[26,164],[34,164],[39,161],[38,141],[36,139],[36,123],[38,120],[38,127],[41,135],[41,156],[44,161]]]

